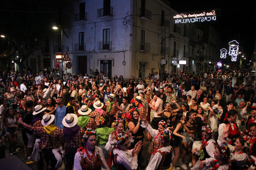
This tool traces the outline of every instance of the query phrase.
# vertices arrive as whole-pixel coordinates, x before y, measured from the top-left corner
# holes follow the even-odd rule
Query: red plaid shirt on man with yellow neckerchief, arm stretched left
[[[51,146],[51,142],[50,142],[50,138],[49,138],[50,136],[46,133],[43,126],[35,127],[35,126],[31,126],[31,125],[28,125],[28,124],[25,124],[25,123],[22,123],[22,126],[24,128],[27,128],[27,129],[33,131],[33,133],[35,133],[36,135],[41,136],[42,149],[58,148],[59,143],[63,142],[63,136],[62,136],[61,128],[57,127],[54,130],[54,132],[51,134],[51,141],[52,141],[52,146]]]

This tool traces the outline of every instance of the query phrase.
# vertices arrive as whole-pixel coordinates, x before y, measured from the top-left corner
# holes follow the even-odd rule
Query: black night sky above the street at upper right
[[[170,2],[171,7],[180,13],[220,9],[220,16],[210,24],[220,33],[223,43],[228,45],[228,42],[236,40],[247,56],[253,53],[256,29],[255,0],[170,0]]]

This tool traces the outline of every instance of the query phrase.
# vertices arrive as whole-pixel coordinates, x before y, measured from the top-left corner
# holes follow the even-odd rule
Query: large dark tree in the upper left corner
[[[0,58],[11,59],[23,74],[23,63],[51,31],[60,12],[54,8],[60,0],[1,1]],[[18,58],[16,57],[18,52]]]

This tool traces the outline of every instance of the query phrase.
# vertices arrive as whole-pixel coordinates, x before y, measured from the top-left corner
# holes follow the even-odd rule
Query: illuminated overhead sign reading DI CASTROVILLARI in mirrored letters
[[[178,23],[195,23],[195,22],[205,22],[205,21],[215,21],[216,16],[220,15],[219,9],[199,11],[199,12],[188,12],[174,14],[172,16],[175,24]]]

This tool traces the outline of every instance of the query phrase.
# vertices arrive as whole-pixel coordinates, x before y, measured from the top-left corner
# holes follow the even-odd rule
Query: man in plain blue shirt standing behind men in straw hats
[[[58,97],[56,103],[59,106],[55,113],[54,124],[59,128],[63,128],[62,120],[66,116],[66,106],[64,105],[63,97]]]

